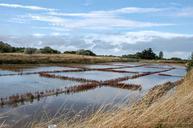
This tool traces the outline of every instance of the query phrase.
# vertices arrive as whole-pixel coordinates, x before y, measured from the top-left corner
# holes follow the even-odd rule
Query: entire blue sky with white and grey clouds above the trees
[[[166,58],[193,52],[193,0],[0,0],[0,40],[18,47]]]

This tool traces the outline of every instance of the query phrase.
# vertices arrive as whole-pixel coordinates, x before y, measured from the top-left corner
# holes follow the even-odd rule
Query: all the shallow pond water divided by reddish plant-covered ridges
[[[113,68],[123,66],[137,66],[139,63],[112,63],[112,65],[86,65],[89,68]],[[146,68],[146,66],[149,66]],[[135,72],[154,72],[164,70],[162,65],[146,65],[143,67],[121,68],[116,70],[135,71]],[[170,66],[164,65],[164,68]],[[176,69],[164,72],[165,74],[175,74],[183,76],[186,73],[185,68],[174,66]],[[23,72],[40,72],[40,71],[54,71],[54,70],[71,70],[77,68],[67,68],[61,66],[47,66],[47,67],[33,67],[23,68]],[[1,74],[16,73],[8,70],[0,70]],[[119,77],[132,76],[134,73],[117,73],[104,71],[85,71],[85,72],[60,72],[54,73],[56,75],[86,78],[91,80],[105,81],[116,79]],[[139,77],[136,79],[129,79],[123,83],[142,85],[142,91],[127,90],[120,88],[112,88],[107,86],[93,88],[87,91],[69,94],[60,94],[58,96],[43,97],[34,102],[25,102],[23,105],[15,104],[2,106],[0,108],[0,123],[6,120],[9,125],[21,128],[23,124],[30,120],[40,120],[42,117],[54,117],[63,114],[64,118],[71,118],[73,115],[79,113],[80,116],[88,116],[89,113],[94,112],[101,105],[114,106],[115,104],[133,103],[139,100],[150,88],[155,85],[165,83],[167,81],[176,81],[181,77],[174,76],[159,76],[158,74]],[[14,75],[14,76],[0,76],[0,97],[10,96],[16,93],[25,93],[29,91],[40,91],[46,89],[55,89],[62,87],[72,87],[82,83],[73,82],[70,80],[52,79],[39,77],[38,74],[32,75]],[[47,115],[45,115],[45,112]],[[44,118],[46,119],[46,118]]]

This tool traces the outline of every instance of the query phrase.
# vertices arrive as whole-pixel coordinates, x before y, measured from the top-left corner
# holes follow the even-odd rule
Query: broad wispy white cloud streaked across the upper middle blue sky
[[[170,26],[168,23],[154,23],[154,22],[140,22],[129,19],[122,19],[116,17],[103,17],[103,18],[84,18],[84,19],[69,19],[50,15],[28,15],[34,21],[43,21],[53,26],[62,26],[67,29],[89,29],[89,28],[143,28],[143,27],[156,27],[156,26]]]

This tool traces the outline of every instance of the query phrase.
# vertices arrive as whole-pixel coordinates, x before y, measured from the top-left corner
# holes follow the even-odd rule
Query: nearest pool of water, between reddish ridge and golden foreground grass
[[[94,112],[98,107],[103,105],[112,105],[118,103],[134,102],[139,99],[141,94],[139,91],[128,91],[124,89],[101,87],[87,92],[75,93],[73,95],[59,95],[50,96],[41,99],[40,101],[35,101],[33,103],[27,103],[23,106],[14,108],[2,108],[0,112],[6,113],[1,114],[5,116],[9,123],[14,124],[16,120],[22,119],[31,120],[32,117],[35,119],[40,119],[42,115],[47,112],[47,114],[52,117],[59,110],[59,114],[64,113],[65,118],[70,118],[77,114],[78,112],[86,113]],[[130,99],[128,101],[128,98]],[[84,115],[82,114],[82,115]],[[37,118],[39,117],[39,118]],[[18,122],[22,123],[22,122]]]

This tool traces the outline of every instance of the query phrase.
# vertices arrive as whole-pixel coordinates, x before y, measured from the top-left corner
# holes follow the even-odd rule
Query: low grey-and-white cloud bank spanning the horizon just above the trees
[[[62,35],[52,32],[33,36],[0,36],[0,40],[17,46],[44,47],[77,50],[91,49],[97,54],[122,55],[135,53],[145,48],[153,48],[157,53],[163,51],[165,57],[189,57],[193,48],[193,35],[159,31],[138,31],[120,34],[90,34],[82,36]]]

